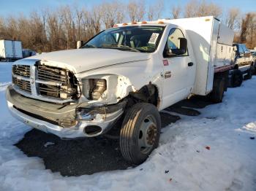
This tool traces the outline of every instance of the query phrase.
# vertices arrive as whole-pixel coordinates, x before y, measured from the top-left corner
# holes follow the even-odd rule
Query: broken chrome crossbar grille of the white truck
[[[26,72],[28,70],[30,76]],[[78,98],[78,81],[68,69],[39,63],[30,66],[15,65],[12,78],[15,89],[31,98],[54,103],[64,103]]]

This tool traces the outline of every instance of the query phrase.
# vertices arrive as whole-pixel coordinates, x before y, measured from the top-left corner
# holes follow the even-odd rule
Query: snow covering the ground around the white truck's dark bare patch
[[[142,165],[63,177],[12,146],[31,128],[7,112],[10,74],[3,77],[2,66],[10,64],[0,64],[0,190],[256,190],[256,77],[228,89],[222,104],[162,129],[159,148]]]

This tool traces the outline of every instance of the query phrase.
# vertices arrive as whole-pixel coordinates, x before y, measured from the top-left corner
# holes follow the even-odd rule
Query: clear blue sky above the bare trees
[[[93,7],[94,4],[100,4],[102,1],[111,0],[0,0],[0,16],[8,17],[10,15],[29,15],[32,11],[39,11],[42,8],[56,9],[61,5],[76,5],[78,7]],[[127,2],[126,0],[124,2]],[[162,17],[170,17],[170,10],[173,5],[179,5],[182,7],[189,0],[164,0],[165,10],[162,13]],[[231,7],[238,7],[241,12],[255,12],[256,11],[256,0],[215,0],[207,2],[214,2],[218,4],[222,9],[227,10]],[[154,0],[145,0],[146,4],[154,4]],[[168,8],[170,7],[170,8]]]

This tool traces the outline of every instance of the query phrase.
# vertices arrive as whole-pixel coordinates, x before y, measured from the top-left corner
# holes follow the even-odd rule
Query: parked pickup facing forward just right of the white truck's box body
[[[254,61],[251,52],[245,44],[233,44],[234,46],[234,68],[230,71],[230,86],[238,87],[243,79],[251,79],[255,72]]]

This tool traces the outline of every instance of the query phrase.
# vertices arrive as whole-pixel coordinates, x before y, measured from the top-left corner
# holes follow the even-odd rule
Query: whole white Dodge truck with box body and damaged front
[[[190,95],[222,101],[233,35],[211,16],[118,24],[78,50],[16,61],[7,104],[67,139],[102,135],[121,119],[121,153],[139,164],[159,144],[159,111]]]

